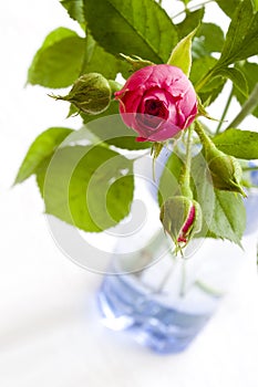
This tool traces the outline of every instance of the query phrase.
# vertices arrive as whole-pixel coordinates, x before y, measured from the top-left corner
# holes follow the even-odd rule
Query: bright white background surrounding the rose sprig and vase
[[[11,188],[38,134],[54,125],[79,127],[76,119],[64,119],[66,106],[48,91],[23,87],[35,50],[59,25],[76,28],[56,0],[1,4],[0,386],[256,387],[255,236],[245,241],[245,262],[231,292],[202,335],[180,355],[158,356],[102,326],[95,306],[102,278],[55,247],[34,179]]]

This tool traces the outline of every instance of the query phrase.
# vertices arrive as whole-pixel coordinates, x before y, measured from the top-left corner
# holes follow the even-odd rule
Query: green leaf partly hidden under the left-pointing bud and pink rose
[[[86,128],[109,145],[128,150],[145,149],[153,145],[149,142],[136,142],[136,133],[121,119],[117,101],[112,101],[110,107],[102,114],[82,114],[82,116]]]

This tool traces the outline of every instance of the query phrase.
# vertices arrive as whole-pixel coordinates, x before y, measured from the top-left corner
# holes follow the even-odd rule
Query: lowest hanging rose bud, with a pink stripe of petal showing
[[[184,196],[168,198],[161,209],[161,221],[176,245],[186,245],[202,230],[202,209]]]

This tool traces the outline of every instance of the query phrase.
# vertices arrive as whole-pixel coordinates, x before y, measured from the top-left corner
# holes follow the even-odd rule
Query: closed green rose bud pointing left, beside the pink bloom
[[[104,76],[90,73],[80,76],[68,95],[51,96],[72,103],[83,113],[100,114],[109,107],[111,93],[111,85]]]

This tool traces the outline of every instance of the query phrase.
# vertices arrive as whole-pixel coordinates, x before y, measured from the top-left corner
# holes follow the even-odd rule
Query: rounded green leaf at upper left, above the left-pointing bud
[[[84,39],[74,31],[59,28],[44,40],[28,72],[28,82],[44,87],[71,85],[80,75],[84,56]]]

